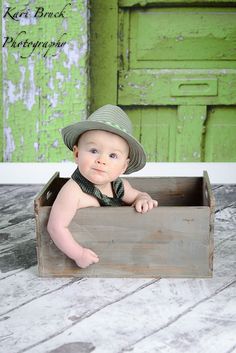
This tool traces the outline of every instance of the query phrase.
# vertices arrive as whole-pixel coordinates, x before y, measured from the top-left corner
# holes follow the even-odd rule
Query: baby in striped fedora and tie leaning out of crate
[[[87,120],[62,129],[62,136],[73,151],[77,169],[58,193],[47,229],[56,246],[85,268],[99,258],[78,244],[68,228],[78,209],[132,205],[145,213],[158,203],[119,177],[146,164],[144,150],[132,136],[131,122],[121,108],[105,105]]]

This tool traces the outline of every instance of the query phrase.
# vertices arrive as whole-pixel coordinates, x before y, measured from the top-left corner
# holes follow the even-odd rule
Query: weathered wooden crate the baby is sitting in
[[[146,214],[133,207],[78,210],[70,230],[99,263],[78,268],[56,248],[47,229],[51,206],[67,178],[56,173],[35,199],[40,276],[77,277],[211,277],[214,197],[203,177],[130,177],[159,207]]]

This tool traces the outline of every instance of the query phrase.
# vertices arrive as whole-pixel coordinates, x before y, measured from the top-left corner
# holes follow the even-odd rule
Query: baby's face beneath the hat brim
[[[120,136],[107,131],[85,132],[74,146],[75,161],[81,174],[95,185],[118,178],[128,167],[129,146]]]

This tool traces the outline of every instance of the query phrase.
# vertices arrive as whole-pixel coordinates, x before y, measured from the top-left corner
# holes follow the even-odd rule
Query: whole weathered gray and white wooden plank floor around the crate
[[[217,200],[212,279],[42,279],[33,199],[0,185],[1,353],[236,353],[236,185]]]

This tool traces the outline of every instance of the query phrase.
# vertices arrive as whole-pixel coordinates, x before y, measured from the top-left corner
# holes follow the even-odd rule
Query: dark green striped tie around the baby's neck
[[[124,206],[122,197],[124,196],[124,185],[121,178],[117,178],[112,182],[114,197],[103,195],[101,191],[86,179],[77,168],[71,178],[81,187],[86,194],[96,197],[100,206]]]

